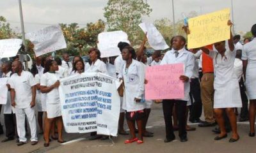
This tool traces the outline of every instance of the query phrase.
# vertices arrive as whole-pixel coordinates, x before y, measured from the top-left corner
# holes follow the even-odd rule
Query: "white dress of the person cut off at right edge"
[[[256,99],[256,38],[244,45],[242,60],[248,60],[245,80],[248,99]]]

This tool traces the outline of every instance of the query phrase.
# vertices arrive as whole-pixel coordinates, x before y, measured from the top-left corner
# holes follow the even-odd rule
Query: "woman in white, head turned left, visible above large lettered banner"
[[[108,75],[106,64],[100,61],[100,51],[97,48],[90,48],[89,57],[92,64],[86,64],[86,72],[101,72]]]

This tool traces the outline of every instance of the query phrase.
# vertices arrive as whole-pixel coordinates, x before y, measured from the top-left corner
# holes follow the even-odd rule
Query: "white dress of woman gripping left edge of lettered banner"
[[[50,87],[60,78],[56,73],[44,73],[41,77],[40,85]],[[46,93],[47,118],[52,119],[61,116],[61,103],[58,88]]]

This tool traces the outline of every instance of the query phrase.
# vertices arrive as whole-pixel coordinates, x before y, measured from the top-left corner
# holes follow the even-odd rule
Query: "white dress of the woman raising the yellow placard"
[[[214,64],[214,106],[213,108],[242,107],[239,83],[234,72],[236,51],[226,48],[225,56],[210,51]]]

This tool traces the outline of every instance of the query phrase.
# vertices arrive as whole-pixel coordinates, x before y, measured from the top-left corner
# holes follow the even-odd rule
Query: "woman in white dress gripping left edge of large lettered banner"
[[[40,80],[40,90],[42,93],[46,93],[47,122],[45,122],[44,131],[45,147],[49,147],[49,135],[54,120],[56,120],[58,128],[58,142],[65,142],[62,139],[63,120],[61,117],[61,103],[58,91],[60,77],[55,73],[58,71],[58,68],[56,61],[48,60],[45,64],[44,74]]]

